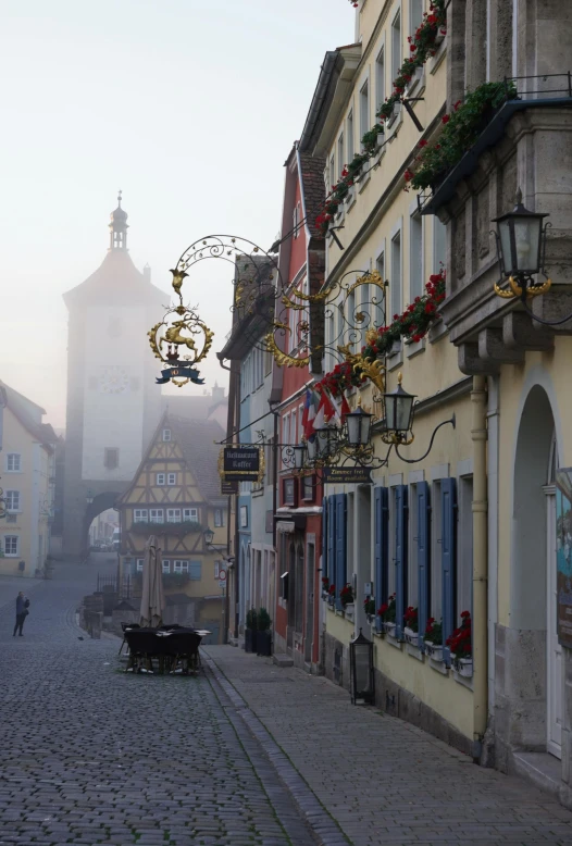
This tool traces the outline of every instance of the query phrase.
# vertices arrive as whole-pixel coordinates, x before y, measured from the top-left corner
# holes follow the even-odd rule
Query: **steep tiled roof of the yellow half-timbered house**
[[[225,433],[213,420],[189,420],[167,414],[169,426],[183,451],[188,469],[195,476],[199,490],[209,502],[224,503],[221,497],[219,476],[219,452],[221,447],[213,441],[222,440]]]

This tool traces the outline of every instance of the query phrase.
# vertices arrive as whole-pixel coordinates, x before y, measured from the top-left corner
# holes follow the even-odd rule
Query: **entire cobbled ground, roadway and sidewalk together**
[[[0,583],[0,846],[572,843],[549,796],[324,679],[232,647],[199,679],[126,675],[75,623],[95,575],[24,583],[23,638]]]

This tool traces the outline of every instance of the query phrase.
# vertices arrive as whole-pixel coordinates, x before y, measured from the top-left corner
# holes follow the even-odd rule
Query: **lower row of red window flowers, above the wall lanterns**
[[[415,297],[402,314],[394,314],[394,320],[388,326],[380,326],[375,341],[370,341],[361,350],[364,359],[374,361],[387,356],[396,340],[400,338],[403,338],[406,344],[415,344],[425,337],[439,316],[438,307],[445,299],[445,271],[442,270],[430,276],[425,291],[421,297]],[[366,376],[362,374],[359,366],[353,369],[348,361],[345,361],[336,364],[331,373],[326,373],[314,388],[318,393],[326,388],[333,397],[338,398],[345,390],[359,387],[365,381]]]

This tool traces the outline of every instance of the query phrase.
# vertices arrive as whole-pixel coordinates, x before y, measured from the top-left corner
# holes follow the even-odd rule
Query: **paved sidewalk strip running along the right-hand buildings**
[[[265,736],[291,762],[355,846],[572,844],[572,812],[527,782],[352,706],[325,679],[231,646],[204,651],[235,702],[249,706],[260,742]]]

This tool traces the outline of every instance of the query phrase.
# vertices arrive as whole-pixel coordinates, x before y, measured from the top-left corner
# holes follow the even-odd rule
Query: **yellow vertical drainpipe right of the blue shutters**
[[[473,758],[478,759],[488,714],[486,376],[473,376]]]

